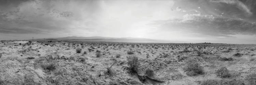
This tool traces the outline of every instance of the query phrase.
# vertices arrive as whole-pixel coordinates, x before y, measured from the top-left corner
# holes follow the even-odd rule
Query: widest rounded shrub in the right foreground
[[[186,74],[188,76],[203,74],[203,67],[199,63],[189,62],[184,70],[187,71]]]

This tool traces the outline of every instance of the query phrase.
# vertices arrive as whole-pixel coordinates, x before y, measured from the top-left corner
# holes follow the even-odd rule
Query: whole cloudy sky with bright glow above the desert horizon
[[[256,0],[0,0],[0,40],[140,37],[256,44]]]

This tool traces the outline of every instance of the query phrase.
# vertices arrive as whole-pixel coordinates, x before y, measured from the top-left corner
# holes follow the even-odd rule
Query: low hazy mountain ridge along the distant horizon
[[[134,37],[58,37],[58,38],[45,38],[45,39],[34,39],[34,41],[106,41],[106,42],[127,42],[127,43],[186,43],[185,41],[168,41],[168,40],[156,40],[148,38],[134,38]]]

